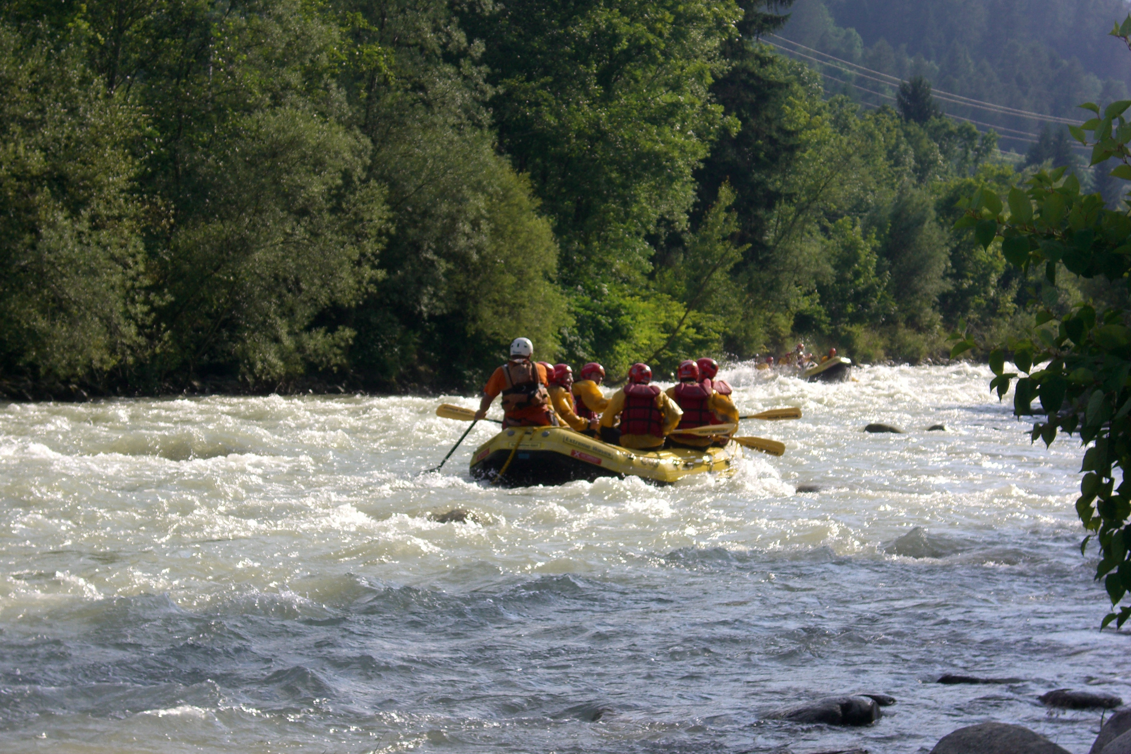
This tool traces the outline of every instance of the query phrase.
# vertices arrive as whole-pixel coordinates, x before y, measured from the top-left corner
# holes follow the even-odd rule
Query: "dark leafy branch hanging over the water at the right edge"
[[[1131,16],[1124,26],[1131,33]],[[1124,118],[1131,101],[1114,102],[1103,111],[1093,103],[1081,106],[1095,118],[1072,127],[1072,136],[1093,147],[1093,165],[1114,157],[1122,164],[1111,175],[1131,180],[1131,123]],[[1065,175],[1064,167],[1038,172],[1022,188],[1011,188],[1004,201],[982,188],[961,206],[966,213],[956,228],[973,228],[986,249],[1000,239],[1005,259],[1026,276],[1033,269],[1055,284],[1063,267],[1125,292],[1131,217],[1126,210],[1107,209],[1099,194],[1081,193],[1076,176]],[[1035,417],[1034,442],[1041,437],[1048,445],[1057,432],[1065,432],[1078,434],[1088,447],[1076,503],[1089,531],[1080,551],[1090,539],[1098,543],[1096,579],[1104,581],[1112,600],[1102,627],[1113,621],[1122,626],[1131,617],[1131,605],[1123,604],[1131,590],[1131,483],[1125,480],[1131,468],[1131,312],[1121,305],[1097,311],[1093,303],[1079,301],[1057,313],[1035,288],[1029,295],[1035,311],[1029,337],[991,352],[991,390],[1003,398],[1016,380],[1013,413]],[[961,324],[951,340],[956,341],[952,357],[975,346]],[[1018,372],[1004,371],[1007,350]]]

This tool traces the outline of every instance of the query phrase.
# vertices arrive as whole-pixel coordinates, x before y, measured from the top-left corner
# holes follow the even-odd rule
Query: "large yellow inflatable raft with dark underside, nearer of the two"
[[[673,448],[656,451],[610,445],[562,427],[511,427],[480,445],[472,456],[472,476],[500,484],[564,484],[597,477],[638,476],[670,484],[692,474],[734,474],[742,448]]]

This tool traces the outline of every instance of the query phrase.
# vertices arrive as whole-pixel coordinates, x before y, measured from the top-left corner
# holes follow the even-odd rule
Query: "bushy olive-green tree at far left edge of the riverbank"
[[[76,46],[0,26],[0,374],[97,379],[138,355],[143,128]]]

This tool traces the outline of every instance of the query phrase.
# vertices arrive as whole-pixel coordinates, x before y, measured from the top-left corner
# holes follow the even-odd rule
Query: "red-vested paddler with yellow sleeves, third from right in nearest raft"
[[[629,383],[608,399],[608,407],[601,417],[601,437],[605,442],[619,442],[634,450],[659,450],[664,437],[680,423],[683,411],[675,401],[651,382],[651,369],[647,364],[629,367]],[[621,427],[614,430],[616,418]]]

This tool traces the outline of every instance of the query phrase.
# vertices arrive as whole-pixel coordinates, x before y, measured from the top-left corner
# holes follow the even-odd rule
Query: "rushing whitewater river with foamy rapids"
[[[1131,700],[1131,635],[1096,630],[1074,443],[982,367],[724,376],[805,418],[666,488],[473,483],[486,425],[422,475],[470,398],[0,405],[0,749],[893,754],[1001,720],[1086,752],[1099,713],[1035,696]],[[762,719],[861,691],[898,703]]]

